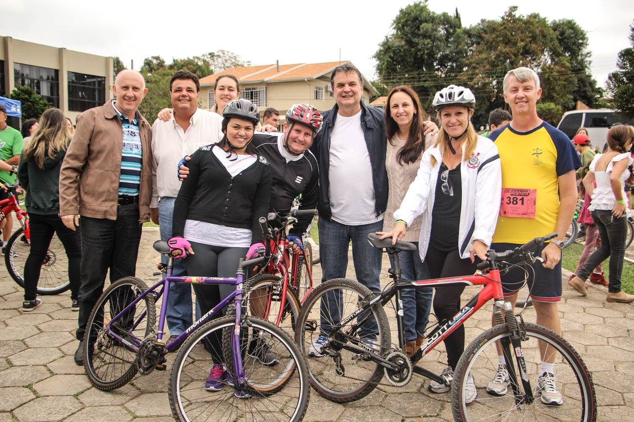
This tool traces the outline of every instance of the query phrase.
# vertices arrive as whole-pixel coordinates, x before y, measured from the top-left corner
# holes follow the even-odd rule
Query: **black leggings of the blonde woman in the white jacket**
[[[469,258],[462,259],[458,251],[439,251],[432,245],[427,248],[427,268],[431,278],[444,278],[459,275],[468,275],[475,272],[476,259],[472,264]],[[434,294],[434,314],[439,323],[443,320],[451,320],[460,310],[460,295],[464,286],[437,287]],[[459,326],[455,332],[444,339],[444,348],[447,351],[447,363],[451,369],[456,369],[458,359],[465,350],[465,327]]]

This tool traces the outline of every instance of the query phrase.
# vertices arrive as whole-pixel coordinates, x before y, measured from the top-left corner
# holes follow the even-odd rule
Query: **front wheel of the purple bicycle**
[[[297,345],[275,325],[247,317],[249,333],[259,333],[271,351],[278,356],[273,366],[262,364],[246,353],[242,342],[243,368],[246,384],[236,386],[233,351],[224,344],[223,350],[209,350],[207,336],[222,337],[233,333],[235,318],[225,317],[205,323],[193,332],[174,359],[170,374],[169,402],[172,415],[178,421],[301,421],[306,413],[310,386],[306,361]],[[227,371],[220,385],[206,385],[210,371],[223,357]]]

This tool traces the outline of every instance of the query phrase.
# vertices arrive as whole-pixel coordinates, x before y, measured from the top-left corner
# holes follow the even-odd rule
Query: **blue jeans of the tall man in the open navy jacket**
[[[380,294],[381,286],[378,276],[381,272],[382,252],[368,242],[368,234],[382,230],[383,220],[360,226],[349,226],[320,218],[317,225],[320,239],[321,282],[346,276],[348,245],[352,241],[356,279],[372,292]],[[321,332],[328,334],[332,330],[332,324],[339,323],[341,318],[338,309],[342,306],[342,298],[335,291],[326,296],[321,302]],[[360,334],[361,337],[372,338],[377,332],[377,321],[370,318],[363,325]]]

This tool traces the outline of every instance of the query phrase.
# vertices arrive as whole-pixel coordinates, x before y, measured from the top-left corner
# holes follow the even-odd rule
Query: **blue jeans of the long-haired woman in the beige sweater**
[[[420,260],[418,242],[413,243],[417,246],[415,251],[401,251],[398,253],[398,261],[402,273],[401,279],[406,282],[428,280],[429,270],[427,270],[427,263]],[[394,267],[394,259],[391,257],[390,263]],[[429,323],[429,312],[432,308],[433,290],[431,287],[401,290],[403,328],[406,342],[416,340],[417,334],[421,336],[425,334],[425,328],[427,328],[427,323]]]

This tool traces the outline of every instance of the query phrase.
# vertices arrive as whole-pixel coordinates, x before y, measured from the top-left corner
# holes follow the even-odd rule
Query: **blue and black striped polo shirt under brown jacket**
[[[112,106],[119,115],[123,130],[123,148],[121,150],[121,171],[119,173],[119,195],[136,196],[139,194],[139,184],[141,183],[141,164],[143,163],[143,149],[141,148],[141,137],[139,135],[138,112],[133,120],[128,120],[126,115],[120,113],[115,107],[115,100]]]

